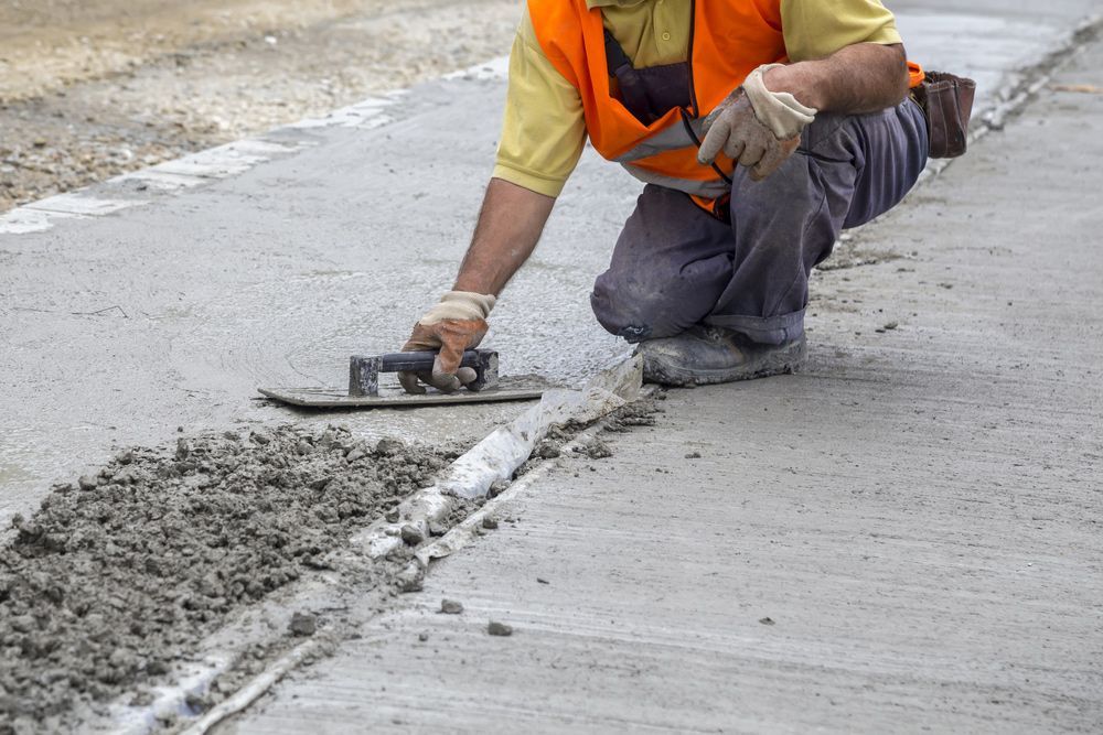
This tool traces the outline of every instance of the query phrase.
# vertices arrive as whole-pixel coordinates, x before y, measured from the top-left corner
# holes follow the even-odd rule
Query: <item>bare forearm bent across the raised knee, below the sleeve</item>
[[[821,112],[876,112],[907,96],[908,57],[901,44],[858,43],[827,58],[772,68],[763,82]]]

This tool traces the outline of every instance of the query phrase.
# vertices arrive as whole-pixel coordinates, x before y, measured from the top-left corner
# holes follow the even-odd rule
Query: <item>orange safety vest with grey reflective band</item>
[[[689,26],[689,107],[651,125],[633,116],[610,90],[601,9],[586,0],[528,0],[540,48],[582,99],[586,130],[603,158],[635,177],[700,199],[729,192],[732,161],[697,162],[702,120],[763,64],[789,61],[781,30],[781,0],[694,2]],[[912,86],[922,80],[912,74]],[[918,72],[920,75],[922,72]]]

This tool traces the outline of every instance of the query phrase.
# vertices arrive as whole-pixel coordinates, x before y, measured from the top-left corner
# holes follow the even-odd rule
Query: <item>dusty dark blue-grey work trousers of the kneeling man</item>
[[[911,100],[871,115],[818,115],[772,176],[737,166],[731,224],[675,190],[649,184],[590,296],[629,342],[699,323],[782,344],[804,331],[808,274],[839,233],[896,206],[927,165],[923,112]]]

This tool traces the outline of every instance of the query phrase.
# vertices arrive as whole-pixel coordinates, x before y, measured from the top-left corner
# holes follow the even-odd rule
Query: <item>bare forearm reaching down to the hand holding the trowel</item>
[[[452,290],[500,294],[536,249],[554,204],[550,196],[491,179]]]

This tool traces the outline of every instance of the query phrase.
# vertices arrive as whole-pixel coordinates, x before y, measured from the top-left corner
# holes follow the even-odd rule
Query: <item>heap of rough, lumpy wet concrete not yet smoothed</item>
[[[55,487],[0,550],[0,732],[154,682],[449,458],[286,426],[124,452]]]

